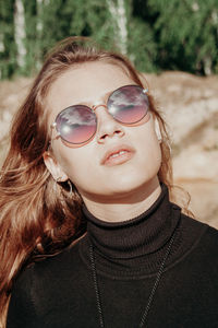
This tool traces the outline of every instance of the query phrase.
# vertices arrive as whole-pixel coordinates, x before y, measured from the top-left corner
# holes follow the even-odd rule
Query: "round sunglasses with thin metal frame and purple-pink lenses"
[[[113,91],[106,105],[72,105],[60,112],[51,125],[58,136],[68,143],[82,144],[90,140],[97,130],[95,109],[107,107],[108,113],[123,125],[134,125],[147,114],[149,101],[147,91],[140,85],[124,85]]]

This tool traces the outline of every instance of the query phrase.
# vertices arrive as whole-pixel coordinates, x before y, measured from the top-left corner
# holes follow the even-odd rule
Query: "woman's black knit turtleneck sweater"
[[[133,220],[102,222],[87,209],[84,215],[85,237],[19,277],[7,328],[100,327],[90,244],[106,328],[140,327],[169,244],[144,327],[218,327],[218,232],[181,214],[165,186]]]

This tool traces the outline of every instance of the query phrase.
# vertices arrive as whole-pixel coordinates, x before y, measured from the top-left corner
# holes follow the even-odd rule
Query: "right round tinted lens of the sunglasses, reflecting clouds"
[[[143,119],[148,106],[148,97],[138,85],[122,86],[108,98],[109,113],[123,124],[135,124]]]

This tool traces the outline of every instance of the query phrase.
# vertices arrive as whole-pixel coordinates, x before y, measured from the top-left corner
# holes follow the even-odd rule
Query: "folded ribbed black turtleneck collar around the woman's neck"
[[[84,206],[87,237],[96,251],[111,259],[131,259],[157,251],[170,239],[179,215],[171,215],[178,207],[170,203],[169,192],[161,192],[154,204],[141,215],[122,222],[105,222],[95,218]],[[124,218],[124,214],[123,214]]]

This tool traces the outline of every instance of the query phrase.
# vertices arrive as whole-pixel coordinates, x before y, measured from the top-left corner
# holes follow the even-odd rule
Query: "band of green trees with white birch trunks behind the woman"
[[[217,0],[0,0],[0,78],[33,74],[70,35],[121,50],[141,71],[218,73]]]

